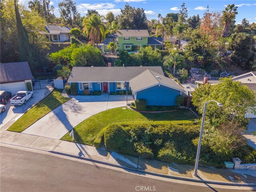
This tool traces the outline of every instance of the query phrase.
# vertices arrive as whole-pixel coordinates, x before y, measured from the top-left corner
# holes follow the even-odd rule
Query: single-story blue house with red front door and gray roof
[[[185,92],[164,76],[161,66],[73,67],[68,83],[76,83],[79,94],[84,89],[107,93],[130,90],[135,99],[146,99],[147,105],[175,105],[176,97]]]

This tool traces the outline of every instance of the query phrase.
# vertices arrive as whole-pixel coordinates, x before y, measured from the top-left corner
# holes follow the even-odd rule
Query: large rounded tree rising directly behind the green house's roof
[[[118,16],[120,29],[148,29],[146,20],[147,17],[143,8],[135,9],[128,3],[125,4],[124,9],[121,9],[121,14]]]

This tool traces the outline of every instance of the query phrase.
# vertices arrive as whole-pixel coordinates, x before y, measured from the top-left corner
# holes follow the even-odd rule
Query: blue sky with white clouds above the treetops
[[[26,0],[21,0],[26,2]],[[61,0],[52,0],[50,4],[55,7],[55,14],[59,16],[58,2]],[[249,22],[256,22],[256,0],[75,0],[77,9],[81,15],[85,15],[88,9],[96,9],[101,15],[106,16],[110,11],[114,15],[120,14],[120,8],[124,8],[126,2],[135,8],[144,8],[148,20],[157,19],[158,13],[166,16],[167,13],[177,13],[182,2],[185,2],[188,8],[188,16],[199,14],[203,16],[204,11],[209,5],[210,11],[222,11],[226,4],[236,4],[238,6],[238,15],[236,16],[236,23],[240,23],[243,18]]]

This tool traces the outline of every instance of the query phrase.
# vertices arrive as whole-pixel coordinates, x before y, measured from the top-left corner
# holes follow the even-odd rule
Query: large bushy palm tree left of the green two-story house
[[[102,20],[103,16],[98,16],[97,14],[92,14],[83,20],[83,30],[89,36],[90,40],[94,44],[100,43],[105,38],[106,27],[104,26]]]

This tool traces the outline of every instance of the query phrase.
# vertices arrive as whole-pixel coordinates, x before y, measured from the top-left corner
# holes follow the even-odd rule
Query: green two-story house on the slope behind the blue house
[[[100,49],[103,52],[110,52],[108,49],[110,42],[113,38],[106,38],[101,44]],[[152,46],[153,49],[161,49],[162,38],[150,37],[148,30],[119,30],[115,37],[115,42],[118,44],[117,51],[132,51],[140,50],[143,46]]]

